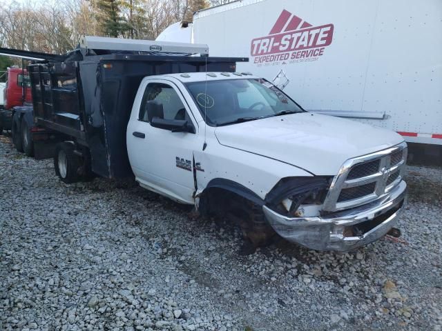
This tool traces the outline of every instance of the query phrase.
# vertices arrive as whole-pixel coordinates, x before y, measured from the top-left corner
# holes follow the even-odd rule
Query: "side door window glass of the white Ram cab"
[[[177,92],[171,86],[164,83],[149,83],[146,87],[138,119],[148,122],[149,112],[151,112],[151,117],[186,119],[190,121],[186,108]]]

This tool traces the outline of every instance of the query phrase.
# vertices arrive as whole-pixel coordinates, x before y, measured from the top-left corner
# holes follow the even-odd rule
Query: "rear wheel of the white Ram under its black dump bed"
[[[74,146],[71,143],[59,143],[55,148],[55,174],[64,183],[79,181],[78,169],[80,161],[80,158],[74,154]]]

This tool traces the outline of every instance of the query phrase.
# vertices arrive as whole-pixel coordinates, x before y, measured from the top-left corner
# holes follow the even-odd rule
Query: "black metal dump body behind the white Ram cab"
[[[126,127],[140,82],[180,72],[234,72],[244,58],[109,54],[29,66],[37,126],[59,132],[90,150],[102,177],[132,175]]]

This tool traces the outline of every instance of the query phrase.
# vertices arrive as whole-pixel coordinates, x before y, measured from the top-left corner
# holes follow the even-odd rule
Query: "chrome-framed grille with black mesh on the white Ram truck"
[[[407,159],[407,144],[345,161],[334,178],[323,210],[354,208],[388,194],[401,182]]]

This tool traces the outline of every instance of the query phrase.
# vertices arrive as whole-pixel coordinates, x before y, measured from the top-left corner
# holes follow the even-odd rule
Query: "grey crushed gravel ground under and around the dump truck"
[[[61,183],[0,137],[0,330],[441,330],[442,169],[408,168],[403,237],[356,252],[238,229],[127,183]]]

